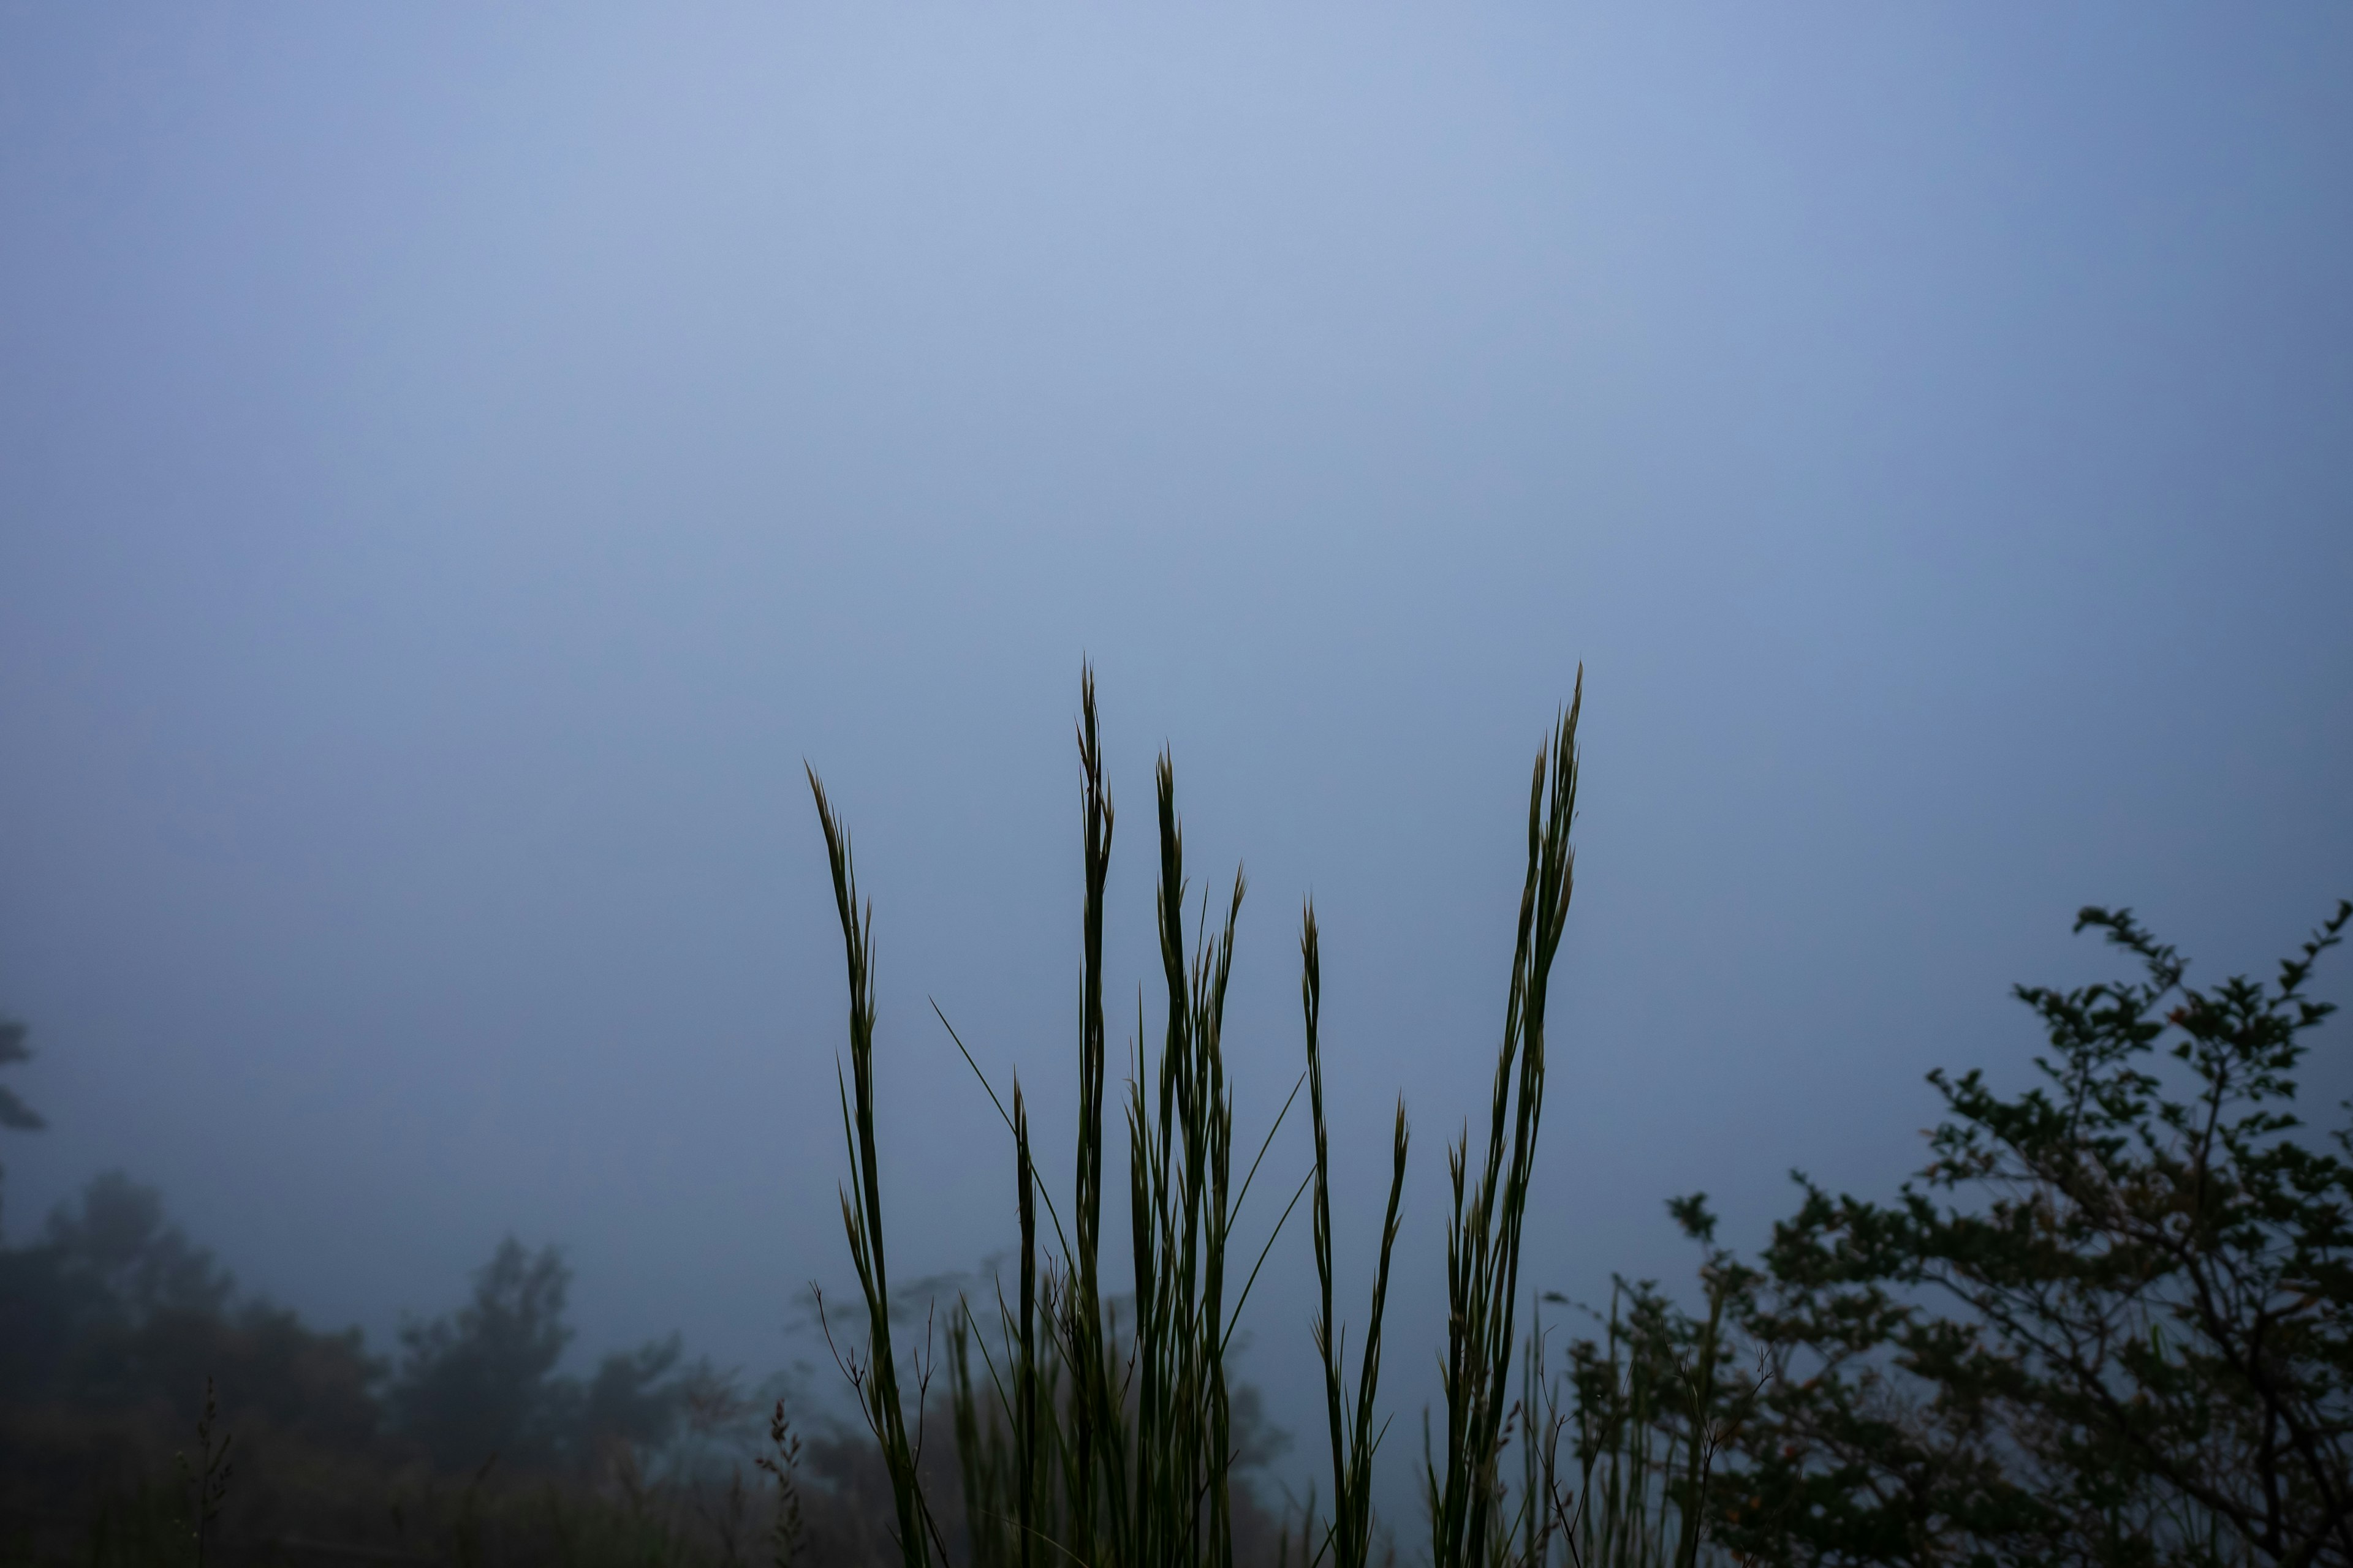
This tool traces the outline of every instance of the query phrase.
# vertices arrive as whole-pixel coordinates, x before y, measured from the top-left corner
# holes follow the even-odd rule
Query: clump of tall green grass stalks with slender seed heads
[[[1513,1396],[1513,1356],[1520,1354],[1515,1338],[1520,1241],[1544,1119],[1546,1004],[1574,893],[1569,825],[1577,816],[1581,708],[1579,670],[1577,691],[1539,750],[1529,785],[1527,877],[1485,1138],[1473,1145],[1466,1128],[1447,1154],[1452,1211],[1442,1446],[1428,1432],[1428,1420],[1424,1425],[1424,1502],[1428,1556],[1435,1568],[1506,1563],[1541,1568],[1555,1552],[1577,1559],[1586,1549],[1600,1549],[1607,1568],[1668,1563],[1652,1547],[1624,1556],[1633,1535],[1621,1530],[1621,1523],[1638,1495],[1645,1507],[1652,1502],[1659,1509],[1673,1507],[1652,1486],[1649,1460],[1642,1460],[1645,1467],[1638,1472],[1626,1465],[1602,1467],[1600,1483],[1605,1488],[1619,1483],[1621,1490],[1617,1502],[1605,1505],[1607,1516],[1588,1507],[1595,1486],[1593,1465],[1584,1467],[1574,1493],[1562,1486],[1555,1450],[1565,1418],[1558,1410],[1558,1385],[1546,1385],[1541,1373],[1541,1335],[1529,1335],[1522,1387],[1518,1399]],[[1184,827],[1176,816],[1174,764],[1162,752],[1155,769],[1160,875],[1153,910],[1167,1001],[1158,1053],[1144,1051],[1139,1004],[1125,1095],[1129,1258],[1122,1284],[1134,1291],[1134,1309],[1120,1321],[1111,1307],[1111,1281],[1101,1255],[1104,1154],[1111,1135],[1104,1121],[1108,1037],[1104,889],[1115,813],[1104,785],[1092,672],[1080,689],[1078,759],[1085,903],[1078,997],[1080,1093],[1068,1215],[1054,1208],[1040,1185],[1021,1086],[1012,1086],[1007,1105],[965,1051],[962,1039],[955,1041],[1012,1135],[1014,1211],[1021,1234],[1012,1298],[1007,1300],[1000,1284],[991,1324],[981,1321],[972,1302],[962,1302],[946,1333],[946,1396],[958,1446],[955,1479],[962,1490],[958,1523],[965,1554],[974,1568],[1040,1563],[1233,1568],[1235,1434],[1226,1356],[1235,1316],[1273,1237],[1280,1237],[1301,1197],[1313,1192],[1318,1279],[1313,1338],[1325,1375],[1332,1493],[1327,1516],[1313,1516],[1313,1502],[1308,1505],[1308,1519],[1301,1521],[1301,1559],[1308,1568],[1325,1563],[1365,1568],[1377,1533],[1374,1453],[1386,1432],[1379,1413],[1379,1375],[1409,1150],[1405,1105],[1400,1100],[1391,1138],[1388,1206],[1365,1345],[1351,1368],[1346,1335],[1334,1314],[1332,1159],[1320,1032],[1322,954],[1315,912],[1313,905],[1304,910],[1299,938],[1306,1030],[1301,1079],[1308,1091],[1313,1164],[1275,1220],[1273,1237],[1249,1258],[1235,1251],[1235,1220],[1299,1088],[1294,1086],[1292,1100],[1282,1105],[1266,1140],[1235,1180],[1224,1023],[1245,882],[1238,872],[1214,929],[1207,922],[1207,898],[1200,900],[1200,936],[1188,943]],[[948,1530],[925,1490],[922,1403],[932,1371],[929,1349],[918,1347],[906,1361],[915,1380],[911,1396],[899,1378],[885,1267],[873,1105],[873,912],[859,900],[849,835],[814,771],[809,788],[826,835],[849,971],[849,1065],[840,1098],[852,1180],[842,1187],[842,1227],[864,1293],[866,1340],[845,1354],[845,1366],[892,1476],[901,1559],[906,1568],[932,1568],[948,1556]],[[941,1023],[946,1025],[946,1018]],[[955,1034],[953,1027],[948,1032]],[[1553,1392],[1546,1392],[1548,1387]],[[1506,1448],[1515,1432],[1525,1436],[1518,1488],[1506,1481]],[[1581,1446],[1586,1448],[1591,1446]],[[1654,1537],[1657,1533],[1642,1535],[1642,1540]],[[1697,1549],[1697,1533],[1689,1540]],[[1675,1559],[1678,1568],[1692,1568],[1692,1552],[1678,1549]]]

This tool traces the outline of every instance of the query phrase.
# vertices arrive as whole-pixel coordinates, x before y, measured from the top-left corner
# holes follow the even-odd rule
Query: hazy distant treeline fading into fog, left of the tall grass
[[[212,1528],[245,1554],[282,1540],[431,1554],[461,1505],[536,1490],[635,1497],[645,1514],[656,1486],[748,1469],[774,1401],[687,1361],[675,1335],[586,1378],[558,1371],[569,1286],[553,1248],[506,1239],[464,1307],[402,1326],[376,1356],[358,1328],[245,1295],[153,1187],[99,1175],[0,1248],[0,1561],[141,1561],[158,1530],[193,1523],[174,1455],[207,1401],[231,1441]],[[852,1450],[809,1458],[854,1483]]]

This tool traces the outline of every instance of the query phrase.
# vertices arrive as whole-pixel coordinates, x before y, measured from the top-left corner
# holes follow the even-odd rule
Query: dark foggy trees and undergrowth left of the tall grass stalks
[[[372,1356],[245,1300],[155,1190],[101,1175],[0,1248],[0,1566],[896,1561],[861,1432],[675,1338],[565,1378],[567,1291],[511,1239],[459,1312]],[[953,1497],[946,1399],[927,1427]],[[1273,1516],[1245,1512],[1273,1561]]]

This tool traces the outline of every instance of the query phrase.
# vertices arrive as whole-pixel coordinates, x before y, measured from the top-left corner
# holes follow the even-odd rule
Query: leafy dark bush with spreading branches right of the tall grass
[[[1798,1568],[2353,1563],[2353,1126],[2289,1112],[2348,922],[2200,990],[2082,910],[2141,978],[2019,987],[2040,1086],[1932,1074],[1948,1119],[1897,1201],[1805,1182],[1755,1262],[1711,1246],[1708,1319],[1635,1288],[1621,1345],[1673,1387],[1652,1420],[1725,1443],[1685,1495],[1711,1533]],[[1697,1199],[1675,1218],[1711,1237]],[[1626,1382],[1579,1366],[1607,1436]]]

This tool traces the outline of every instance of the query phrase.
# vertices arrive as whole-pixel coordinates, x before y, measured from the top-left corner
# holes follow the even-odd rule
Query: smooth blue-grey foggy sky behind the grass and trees
[[[2085,900],[2212,978],[2353,893],[2348,80],[2318,5],[9,5],[7,1234],[125,1166],[379,1349],[513,1229],[581,1356],[821,1354],[802,759],[894,1267],[967,1269],[1012,1154],[925,999],[1066,1150],[1092,656],[1115,973],[1162,743],[1249,865],[1245,1131],[1315,893],[1351,1321],[1409,1103],[1409,1450],[1579,661],[1537,1286],[1887,1190],[2012,980],[2115,971]]]

